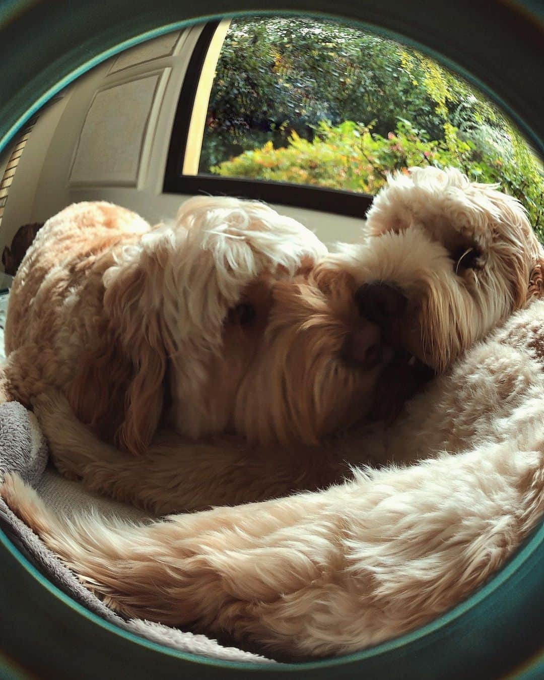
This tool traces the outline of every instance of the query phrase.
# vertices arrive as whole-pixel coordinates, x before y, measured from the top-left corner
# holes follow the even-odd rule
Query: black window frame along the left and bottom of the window
[[[319,212],[364,218],[374,197],[369,194],[328,189],[321,186],[246,180],[211,175],[183,175],[183,159],[196,90],[211,40],[219,21],[207,22],[189,58],[170,136],[163,192],[168,194],[211,194],[290,205]]]

